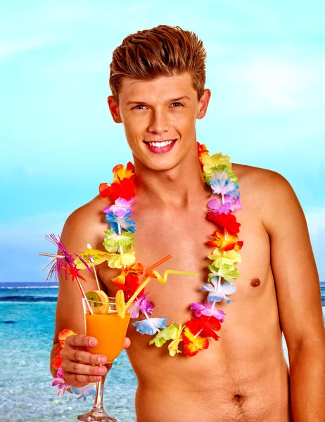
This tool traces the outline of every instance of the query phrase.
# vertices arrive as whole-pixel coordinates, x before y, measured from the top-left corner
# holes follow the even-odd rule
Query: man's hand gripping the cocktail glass
[[[89,383],[101,381],[113,364],[106,364],[104,354],[86,352],[85,347],[94,347],[98,343],[94,337],[86,334],[69,335],[60,352],[62,358],[63,379],[72,387],[83,387]],[[124,348],[130,345],[129,338],[125,338]],[[105,366],[99,366],[105,365]]]

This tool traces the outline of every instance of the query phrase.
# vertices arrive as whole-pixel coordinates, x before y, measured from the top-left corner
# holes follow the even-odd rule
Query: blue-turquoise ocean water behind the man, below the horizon
[[[77,421],[76,415],[92,406],[90,399],[57,397],[51,387],[49,353],[58,289],[48,286],[0,283],[0,422]],[[321,300],[324,314],[324,285]],[[284,340],[283,350],[288,359]],[[105,387],[108,414],[118,422],[134,422],[136,377],[125,351],[115,360]]]

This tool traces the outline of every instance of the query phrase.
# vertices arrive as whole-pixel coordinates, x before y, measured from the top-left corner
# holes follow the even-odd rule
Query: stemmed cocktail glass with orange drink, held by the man
[[[95,347],[87,347],[87,352],[105,354],[107,362],[113,360],[122,352],[127,326],[131,314],[127,312],[125,318],[117,314],[115,298],[109,298],[109,305],[105,302],[82,299],[84,307],[84,319],[86,334],[95,337],[98,344]],[[93,314],[89,312],[89,307]],[[96,422],[117,422],[106,414],[103,408],[103,389],[106,376],[96,385],[96,396],[94,407],[87,414],[77,416],[79,421]]]

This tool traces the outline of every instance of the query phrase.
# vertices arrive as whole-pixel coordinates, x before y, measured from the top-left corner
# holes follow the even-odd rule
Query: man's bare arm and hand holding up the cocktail
[[[103,236],[101,231],[106,230],[106,225],[103,224],[102,226],[100,221],[96,222],[96,217],[98,217],[96,202],[98,202],[97,199],[79,208],[65,222],[61,238],[68,252],[82,252],[87,249],[87,243],[90,243],[93,248],[102,248]],[[80,271],[80,274],[87,280],[87,282],[81,281],[85,293],[98,288],[93,272],[90,273],[85,269]],[[105,291],[105,285],[100,280],[98,281],[101,290]],[[97,340],[84,334],[84,312],[77,284],[60,277],[56,305],[56,328],[50,357],[52,376],[56,375],[56,370],[53,368],[53,359],[58,348],[58,333],[65,328],[70,328],[75,333],[80,334],[68,337],[65,340],[63,350],[60,352],[60,357],[63,359],[61,366],[64,371],[65,382],[68,385],[80,387],[90,382],[99,381],[107,371],[106,367],[99,367],[100,364],[106,363],[106,357],[80,350],[84,349],[85,346],[96,345]],[[128,347],[128,345],[129,340],[126,339],[125,347]],[[110,367],[111,364],[108,369]]]

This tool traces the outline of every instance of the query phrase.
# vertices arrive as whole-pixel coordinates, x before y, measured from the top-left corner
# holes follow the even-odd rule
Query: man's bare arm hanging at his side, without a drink
[[[325,338],[319,276],[293,188],[270,172],[266,224],[281,328],[288,345],[295,422],[325,421]]]

